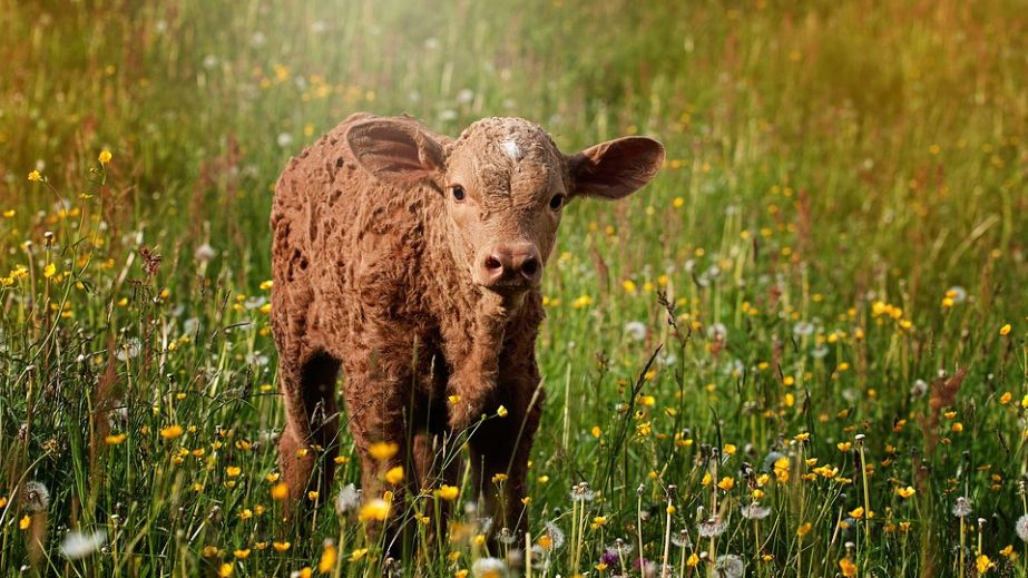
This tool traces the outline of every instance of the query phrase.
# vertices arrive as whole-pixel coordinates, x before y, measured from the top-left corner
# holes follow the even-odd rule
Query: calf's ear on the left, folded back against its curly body
[[[434,184],[446,167],[446,151],[410,120],[372,118],[346,130],[346,144],[358,163],[375,177],[399,185]]]

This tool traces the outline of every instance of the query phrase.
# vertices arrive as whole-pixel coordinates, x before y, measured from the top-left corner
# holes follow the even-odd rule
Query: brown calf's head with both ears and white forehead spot
[[[456,140],[407,118],[372,118],[353,125],[346,140],[379,178],[437,189],[454,259],[474,284],[503,296],[539,285],[568,202],[628,196],[664,161],[664,147],[646,137],[565,155],[520,118],[479,120]]]

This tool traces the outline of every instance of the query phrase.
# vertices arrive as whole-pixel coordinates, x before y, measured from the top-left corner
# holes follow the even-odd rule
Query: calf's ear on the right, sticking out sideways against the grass
[[[646,186],[664,164],[664,145],[648,137],[621,137],[568,157],[571,196],[627,197]]]

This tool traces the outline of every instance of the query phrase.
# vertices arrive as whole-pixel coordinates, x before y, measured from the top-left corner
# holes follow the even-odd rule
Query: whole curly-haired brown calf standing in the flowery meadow
[[[395,466],[412,473],[412,496],[439,477],[456,483],[452,463],[439,467],[441,440],[477,424],[469,447],[483,515],[523,531],[542,409],[539,281],[564,202],[630,194],[663,158],[643,137],[566,156],[522,119],[483,119],[449,139],[408,117],[360,114],[292,159],[271,225],[280,466],[294,500],[331,486],[342,369],[365,497],[381,496]],[[478,423],[500,405],[507,418]],[[380,441],[398,444],[396,457],[372,459]],[[502,496],[490,482],[498,473]]]

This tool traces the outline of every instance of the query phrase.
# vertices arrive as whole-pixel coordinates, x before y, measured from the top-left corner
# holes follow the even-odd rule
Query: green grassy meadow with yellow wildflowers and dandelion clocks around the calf
[[[0,13],[0,575],[1028,576],[1024,2]],[[567,208],[525,541],[349,434],[284,516],[272,186],[360,110],[667,148]]]

